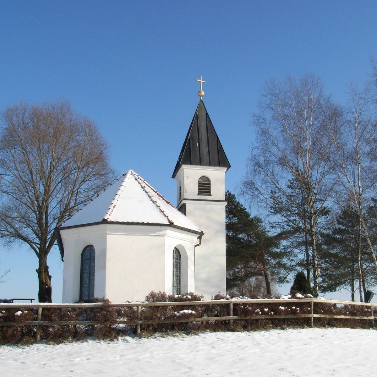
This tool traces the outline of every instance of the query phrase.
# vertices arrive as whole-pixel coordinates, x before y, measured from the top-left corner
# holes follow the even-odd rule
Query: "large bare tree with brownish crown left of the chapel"
[[[47,257],[54,228],[113,178],[95,124],[67,102],[17,104],[2,114],[0,237],[24,242],[38,258],[39,302],[51,302]]]

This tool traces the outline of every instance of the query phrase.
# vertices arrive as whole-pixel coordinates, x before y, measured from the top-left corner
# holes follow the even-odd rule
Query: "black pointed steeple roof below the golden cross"
[[[172,178],[182,165],[221,166],[230,168],[229,161],[213,128],[202,100],[199,101],[189,132],[179,153]]]

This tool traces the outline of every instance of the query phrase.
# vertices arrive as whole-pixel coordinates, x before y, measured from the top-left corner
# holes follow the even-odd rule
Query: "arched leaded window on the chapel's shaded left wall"
[[[80,301],[94,299],[95,250],[93,245],[84,247],[81,253]]]

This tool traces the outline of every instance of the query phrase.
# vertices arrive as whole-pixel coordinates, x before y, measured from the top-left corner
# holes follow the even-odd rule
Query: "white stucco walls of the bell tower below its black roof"
[[[222,167],[182,165],[176,175],[177,201],[181,184],[186,216],[204,231],[195,251],[195,288],[206,298],[226,293],[225,172]],[[210,196],[198,195],[201,176],[211,181]]]

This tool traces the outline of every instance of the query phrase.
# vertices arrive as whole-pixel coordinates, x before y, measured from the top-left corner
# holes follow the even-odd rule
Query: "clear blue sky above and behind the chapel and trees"
[[[170,177],[199,100],[200,75],[232,165],[227,189],[236,191],[253,142],[251,116],[267,80],[315,73],[342,101],[349,83],[367,79],[369,57],[377,57],[373,1],[0,5],[0,110],[19,101],[70,100],[97,123],[115,169],[135,170],[173,203]],[[48,262],[53,300],[60,302],[57,250]],[[0,271],[11,271],[0,297],[37,298],[36,267],[25,247],[1,247]]]

